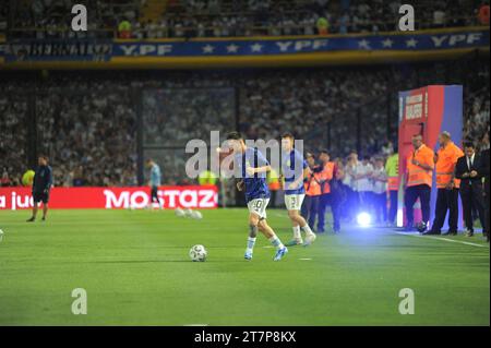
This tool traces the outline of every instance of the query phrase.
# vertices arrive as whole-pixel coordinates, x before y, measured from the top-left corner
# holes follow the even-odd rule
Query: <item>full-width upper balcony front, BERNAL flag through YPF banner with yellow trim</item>
[[[306,53],[347,52],[444,52],[450,49],[489,49],[489,27],[435,29],[367,35],[296,36],[264,38],[200,38],[155,40],[21,39],[0,41],[0,63],[97,62],[109,63],[133,58],[249,57],[274,59],[304,57]],[[303,53],[303,55],[302,55]],[[135,60],[136,61],[136,60]],[[191,62],[193,63],[193,62]]]

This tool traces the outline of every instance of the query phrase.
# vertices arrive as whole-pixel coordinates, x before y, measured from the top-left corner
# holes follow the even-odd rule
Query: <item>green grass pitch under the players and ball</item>
[[[259,236],[244,261],[246,209],[0,212],[0,325],[489,325],[489,245],[345,226],[280,262]],[[285,211],[268,211],[283,241]],[[441,239],[441,238],[440,238]],[[474,244],[463,242],[470,241]],[[204,244],[208,260],[188,251]],[[71,312],[74,288],[87,314]],[[398,311],[415,292],[415,314]]]

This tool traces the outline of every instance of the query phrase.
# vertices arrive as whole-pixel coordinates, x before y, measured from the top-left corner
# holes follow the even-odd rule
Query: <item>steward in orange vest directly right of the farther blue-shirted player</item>
[[[313,154],[308,153],[306,156],[307,164],[311,172],[303,179],[306,188],[306,199],[303,200],[301,215],[308,220],[309,226],[314,226],[315,217],[319,214],[319,200],[321,197],[321,175],[319,166],[315,164]],[[318,172],[315,172],[318,171]]]

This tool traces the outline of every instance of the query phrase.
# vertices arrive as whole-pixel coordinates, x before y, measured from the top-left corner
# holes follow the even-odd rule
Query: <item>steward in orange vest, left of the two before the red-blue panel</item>
[[[434,153],[423,144],[422,135],[412,136],[412,153],[407,157],[406,191],[406,230],[412,230],[415,223],[414,206],[419,197],[421,203],[422,223],[428,226],[430,219],[430,196],[433,181]]]

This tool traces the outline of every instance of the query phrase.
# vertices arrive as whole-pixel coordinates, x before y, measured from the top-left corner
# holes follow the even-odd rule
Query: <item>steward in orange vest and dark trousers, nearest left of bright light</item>
[[[325,225],[325,209],[327,205],[331,205],[333,213],[333,231],[339,232],[339,200],[336,197],[336,192],[333,192],[331,188],[332,180],[336,180],[336,164],[331,161],[330,154],[326,149],[322,149],[319,159],[321,160],[320,177],[321,177],[321,197],[319,202],[319,220],[318,232],[324,232]]]

